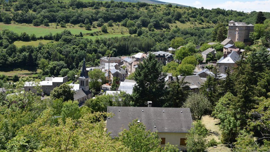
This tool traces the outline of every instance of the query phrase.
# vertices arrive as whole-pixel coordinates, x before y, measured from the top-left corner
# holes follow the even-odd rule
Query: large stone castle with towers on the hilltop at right
[[[250,45],[249,34],[254,32],[254,25],[247,25],[245,22],[229,22],[227,39],[231,39],[233,42],[244,42],[245,45]]]

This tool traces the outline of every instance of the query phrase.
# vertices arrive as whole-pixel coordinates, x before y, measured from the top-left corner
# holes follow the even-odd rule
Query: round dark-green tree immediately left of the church
[[[59,87],[52,89],[50,96],[52,99],[63,98],[64,101],[68,101],[68,100],[73,101],[74,100],[74,97],[73,97],[74,93],[75,92],[74,92],[74,90],[72,90],[71,85],[63,83]]]

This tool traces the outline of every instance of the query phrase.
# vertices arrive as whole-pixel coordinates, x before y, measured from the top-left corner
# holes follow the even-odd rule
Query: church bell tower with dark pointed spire
[[[85,92],[89,91],[89,77],[88,77],[88,73],[86,70],[86,65],[85,65],[85,59],[83,60],[83,65],[82,65],[82,69],[81,69],[81,74],[79,77],[79,82],[80,82],[80,89],[83,89]]]

